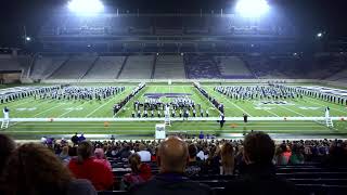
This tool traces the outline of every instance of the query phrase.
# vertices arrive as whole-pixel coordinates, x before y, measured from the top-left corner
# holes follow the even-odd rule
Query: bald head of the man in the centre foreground
[[[158,147],[157,162],[160,172],[184,172],[188,161],[188,146],[177,136],[169,136]]]

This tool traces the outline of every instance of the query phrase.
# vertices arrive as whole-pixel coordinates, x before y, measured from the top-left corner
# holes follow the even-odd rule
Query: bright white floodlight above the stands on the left
[[[100,13],[104,11],[104,4],[100,0],[72,0],[67,8],[75,13]]]

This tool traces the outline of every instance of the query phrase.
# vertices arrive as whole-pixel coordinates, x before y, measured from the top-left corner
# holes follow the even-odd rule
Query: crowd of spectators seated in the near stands
[[[347,141],[298,140],[274,142],[262,132],[245,140],[86,141],[77,134],[72,142],[49,139],[43,144],[15,144],[0,134],[0,193],[2,194],[95,194],[120,190],[132,194],[210,194],[209,187],[190,178],[201,176],[244,176],[233,180],[226,192],[277,194],[290,182],[275,176],[275,165],[320,164],[347,166]],[[129,173],[116,181],[113,164],[128,164]],[[153,173],[157,165],[158,173]],[[249,187],[257,186],[257,187]]]

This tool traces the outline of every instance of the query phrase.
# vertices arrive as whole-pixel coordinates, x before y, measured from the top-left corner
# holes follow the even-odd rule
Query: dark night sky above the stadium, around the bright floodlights
[[[312,36],[324,30],[329,39],[347,37],[347,0],[268,0],[269,4],[283,12],[297,26],[301,36]],[[23,26],[28,35],[38,29],[54,11],[67,0],[2,0],[0,5],[0,47],[16,47],[21,43]],[[120,11],[151,13],[198,12],[200,9],[228,10],[234,0],[104,0],[110,8]]]

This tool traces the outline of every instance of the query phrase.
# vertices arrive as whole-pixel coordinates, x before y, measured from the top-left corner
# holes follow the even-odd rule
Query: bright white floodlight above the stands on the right
[[[259,17],[269,10],[266,0],[239,0],[236,3],[236,12],[244,17]]]

